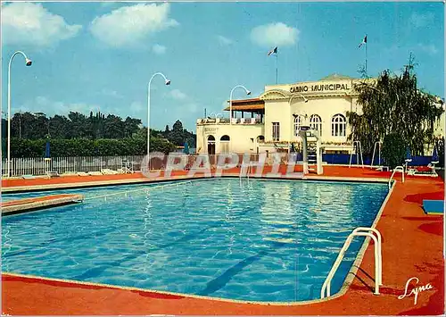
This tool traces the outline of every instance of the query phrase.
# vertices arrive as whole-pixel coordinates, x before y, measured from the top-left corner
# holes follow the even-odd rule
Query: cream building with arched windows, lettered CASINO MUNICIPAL
[[[298,146],[301,125],[318,129],[325,153],[351,153],[347,112],[361,112],[354,84],[337,74],[313,82],[266,86],[257,98],[234,100],[232,121],[198,119],[197,153],[287,152]],[[225,111],[229,111],[228,106]],[[444,135],[444,113],[437,134]]]

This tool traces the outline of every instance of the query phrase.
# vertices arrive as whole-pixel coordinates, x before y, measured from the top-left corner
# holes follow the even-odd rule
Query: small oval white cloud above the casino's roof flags
[[[299,29],[288,27],[282,22],[269,23],[255,27],[251,39],[260,46],[292,46],[299,36]]]

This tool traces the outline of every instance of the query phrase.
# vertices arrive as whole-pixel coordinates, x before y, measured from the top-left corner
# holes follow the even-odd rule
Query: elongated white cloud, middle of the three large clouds
[[[96,17],[90,30],[103,43],[122,47],[136,46],[153,34],[178,25],[178,21],[169,18],[169,4],[135,4]]]

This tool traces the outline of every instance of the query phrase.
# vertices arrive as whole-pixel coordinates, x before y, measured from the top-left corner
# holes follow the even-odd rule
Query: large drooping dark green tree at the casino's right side
[[[425,144],[433,144],[434,128],[443,113],[436,97],[417,88],[417,75],[410,55],[400,76],[383,71],[376,80],[364,79],[355,85],[362,114],[347,113],[351,134],[365,154],[371,154],[376,141],[397,133],[411,154],[424,154]]]

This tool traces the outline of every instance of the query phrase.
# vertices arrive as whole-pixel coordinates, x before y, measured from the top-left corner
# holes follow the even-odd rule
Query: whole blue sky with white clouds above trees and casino
[[[337,72],[358,77],[368,35],[368,74],[400,71],[409,52],[420,88],[444,97],[444,4],[438,3],[7,3],[2,4],[2,101],[10,56],[12,113],[90,110],[151,127],[186,129],[223,113],[235,85],[258,96],[279,83]],[[235,98],[244,98],[236,90]],[[225,113],[227,116],[228,113]]]

